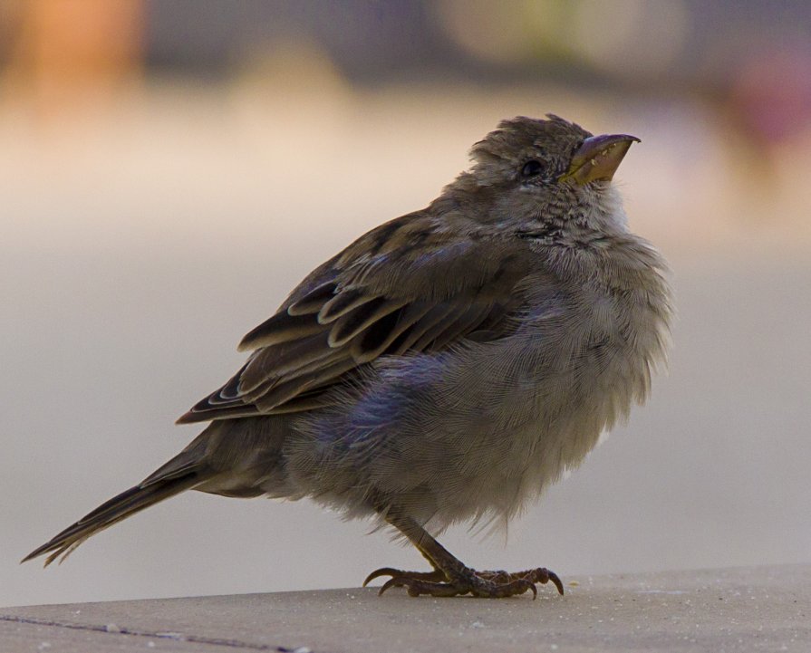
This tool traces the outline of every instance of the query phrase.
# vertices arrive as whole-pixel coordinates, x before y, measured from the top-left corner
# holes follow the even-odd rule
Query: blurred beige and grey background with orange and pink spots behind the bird
[[[188,493],[62,567],[17,561],[140,481],[241,336],[425,206],[502,118],[642,139],[671,371],[480,568],[811,562],[804,0],[0,3],[0,605],[357,586],[411,549],[314,504]]]

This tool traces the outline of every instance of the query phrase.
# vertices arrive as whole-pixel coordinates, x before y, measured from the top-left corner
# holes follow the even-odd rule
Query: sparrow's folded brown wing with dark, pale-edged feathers
[[[254,350],[178,423],[294,412],[383,355],[441,351],[513,328],[529,250],[519,239],[454,235],[403,216],[316,269],[240,350]]]

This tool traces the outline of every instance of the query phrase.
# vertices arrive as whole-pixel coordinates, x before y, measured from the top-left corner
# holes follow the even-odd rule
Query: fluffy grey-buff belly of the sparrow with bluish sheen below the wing
[[[296,427],[288,471],[326,503],[383,496],[438,527],[515,514],[627,410],[622,343],[589,342],[570,331],[392,360]]]

